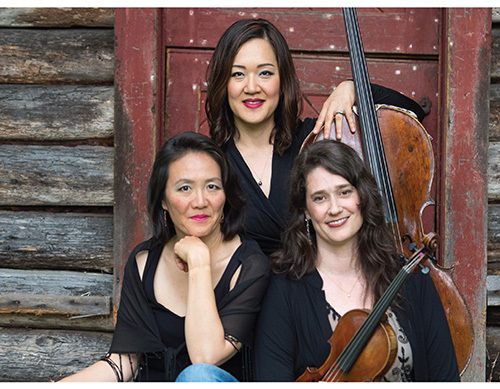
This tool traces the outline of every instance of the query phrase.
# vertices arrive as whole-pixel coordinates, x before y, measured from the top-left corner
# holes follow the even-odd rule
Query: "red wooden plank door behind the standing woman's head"
[[[437,139],[439,9],[358,9],[372,82],[433,104],[424,120]],[[306,96],[305,117],[316,117],[339,82],[351,78],[342,11],[338,9],[166,9],[165,134],[208,133],[205,72],[213,48],[232,23],[262,17],[274,23],[292,50]],[[422,28],[425,26],[425,28]]]

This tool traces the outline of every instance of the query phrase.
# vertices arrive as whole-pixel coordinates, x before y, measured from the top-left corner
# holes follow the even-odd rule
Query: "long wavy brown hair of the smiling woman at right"
[[[272,268],[291,279],[300,279],[316,269],[316,233],[310,223],[309,238],[304,218],[306,180],[317,167],[342,176],[358,192],[363,216],[358,232],[358,265],[368,281],[369,292],[378,301],[400,270],[400,256],[385,222],[375,179],[354,149],[335,140],[313,143],[295,160],[290,179],[290,219],[283,235],[283,249],[271,257]]]

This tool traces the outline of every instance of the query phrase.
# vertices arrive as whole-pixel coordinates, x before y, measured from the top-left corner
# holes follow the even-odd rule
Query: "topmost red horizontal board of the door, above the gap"
[[[439,8],[359,8],[365,51],[438,55]],[[165,45],[214,48],[239,19],[264,18],[294,51],[347,51],[340,8],[172,8],[164,12]]]

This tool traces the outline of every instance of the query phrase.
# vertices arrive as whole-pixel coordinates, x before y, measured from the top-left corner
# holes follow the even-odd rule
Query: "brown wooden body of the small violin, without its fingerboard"
[[[320,368],[308,367],[296,382],[380,381],[394,363],[397,355],[396,335],[386,320],[382,320],[378,324],[365,349],[349,372],[342,371],[338,366],[335,368],[335,361],[366,320],[368,314],[369,311],[362,309],[354,309],[344,314],[328,340],[331,346],[328,359]],[[334,373],[328,373],[329,370],[333,370]]]

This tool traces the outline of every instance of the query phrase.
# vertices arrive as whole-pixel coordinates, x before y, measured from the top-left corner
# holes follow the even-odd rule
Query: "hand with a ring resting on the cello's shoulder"
[[[345,115],[347,124],[352,133],[356,131],[354,123],[352,106],[356,102],[356,94],[354,91],[353,81],[342,81],[337,88],[330,94],[323,104],[323,108],[319,113],[316,125],[313,128],[313,133],[318,134],[324,124],[324,138],[330,138],[330,130],[335,121],[336,138],[342,139],[342,121]]]

